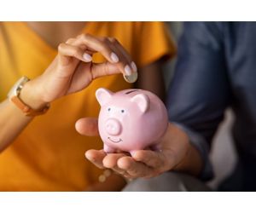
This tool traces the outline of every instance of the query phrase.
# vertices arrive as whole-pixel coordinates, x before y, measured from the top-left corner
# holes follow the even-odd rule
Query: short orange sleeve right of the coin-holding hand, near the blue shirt
[[[137,22],[137,66],[142,67],[160,58],[176,55],[176,46],[164,22]]]

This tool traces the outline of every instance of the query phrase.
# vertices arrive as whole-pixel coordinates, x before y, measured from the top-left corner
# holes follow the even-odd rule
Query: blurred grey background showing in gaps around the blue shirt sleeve
[[[166,22],[166,25],[169,27],[172,38],[177,45],[179,37],[183,32],[183,22]],[[166,88],[168,88],[172,80],[175,63],[176,59],[168,62],[163,70]],[[215,178],[207,183],[212,188],[217,187],[218,183],[230,174],[236,164],[236,150],[230,136],[233,118],[233,113],[228,109],[225,112],[224,122],[219,126],[218,132],[212,141],[210,158],[212,160]]]

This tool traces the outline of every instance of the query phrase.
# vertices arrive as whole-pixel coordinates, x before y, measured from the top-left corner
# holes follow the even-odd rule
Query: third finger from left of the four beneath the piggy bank
[[[118,166],[120,169],[125,170],[128,175],[133,177],[149,176],[154,173],[154,170],[147,165],[135,161],[131,157],[119,158]]]

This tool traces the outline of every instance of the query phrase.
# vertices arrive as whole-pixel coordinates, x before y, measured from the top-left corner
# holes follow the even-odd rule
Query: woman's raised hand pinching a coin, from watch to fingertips
[[[106,62],[92,63],[92,55],[101,53]],[[58,47],[58,55],[38,78],[26,83],[20,98],[32,108],[55,101],[86,88],[93,79],[122,72],[137,72],[122,45],[114,38],[82,34],[70,38]]]

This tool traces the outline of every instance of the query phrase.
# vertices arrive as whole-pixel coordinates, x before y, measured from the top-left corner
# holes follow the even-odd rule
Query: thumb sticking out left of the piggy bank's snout
[[[75,128],[81,135],[87,135],[87,136],[99,135],[97,118],[80,118],[76,122]]]

